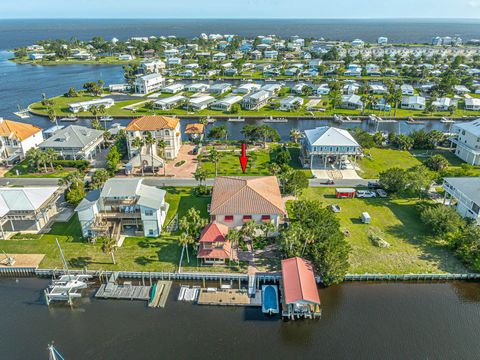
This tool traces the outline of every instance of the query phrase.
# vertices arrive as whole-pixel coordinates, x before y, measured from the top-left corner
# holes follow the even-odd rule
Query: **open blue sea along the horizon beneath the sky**
[[[94,36],[126,40],[132,36],[176,35],[192,38],[205,33],[238,34],[247,37],[276,34],[351,41],[429,42],[433,36],[460,35],[480,38],[480,20],[355,20],[355,19],[118,19],[118,20],[0,20],[0,49],[12,49],[43,39],[89,40]]]

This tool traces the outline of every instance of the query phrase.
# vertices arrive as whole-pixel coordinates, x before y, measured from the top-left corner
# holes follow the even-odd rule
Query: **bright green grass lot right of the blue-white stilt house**
[[[416,165],[421,165],[430,156],[436,154],[443,155],[448,160],[450,163],[447,168],[448,172],[460,170],[461,165],[465,164],[464,161],[448,150],[401,151],[371,148],[365,149],[364,152],[365,154],[369,154],[370,157],[365,156],[358,164],[361,169],[360,176],[365,179],[377,178],[379,173],[392,167],[408,169]],[[473,168],[469,176],[480,176],[480,167],[477,166]]]

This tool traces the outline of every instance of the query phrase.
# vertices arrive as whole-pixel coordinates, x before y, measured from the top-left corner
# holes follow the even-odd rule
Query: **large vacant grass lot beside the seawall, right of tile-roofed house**
[[[350,273],[462,273],[465,267],[453,253],[429,236],[420,222],[415,199],[336,199],[333,188],[308,188],[303,198],[325,205],[338,204],[342,230],[348,230],[352,246]],[[368,212],[372,224],[360,221]],[[378,230],[377,230],[378,229]],[[368,238],[369,231],[380,231],[390,248],[379,248]]]

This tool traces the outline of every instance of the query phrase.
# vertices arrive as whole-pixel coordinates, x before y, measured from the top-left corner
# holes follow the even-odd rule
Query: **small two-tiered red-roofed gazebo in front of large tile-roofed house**
[[[229,260],[237,260],[227,234],[228,226],[217,222],[208,224],[200,235],[197,258],[207,265],[224,265]]]

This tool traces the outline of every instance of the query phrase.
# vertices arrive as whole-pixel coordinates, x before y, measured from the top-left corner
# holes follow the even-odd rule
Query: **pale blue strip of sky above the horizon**
[[[0,0],[0,18],[480,19],[480,0]]]

